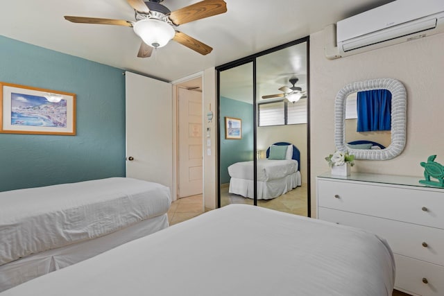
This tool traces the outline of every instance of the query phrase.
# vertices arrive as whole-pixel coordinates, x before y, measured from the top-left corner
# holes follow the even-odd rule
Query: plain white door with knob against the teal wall
[[[173,192],[173,96],[167,82],[126,72],[126,176]]]

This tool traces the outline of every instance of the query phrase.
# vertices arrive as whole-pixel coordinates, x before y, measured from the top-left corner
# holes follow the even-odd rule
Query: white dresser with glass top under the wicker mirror
[[[330,173],[317,182],[318,218],[386,238],[395,255],[395,288],[444,295],[444,189],[420,177]]]

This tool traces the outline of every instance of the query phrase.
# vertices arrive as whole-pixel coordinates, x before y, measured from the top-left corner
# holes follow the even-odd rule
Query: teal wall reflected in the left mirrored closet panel
[[[221,96],[221,184],[230,182],[228,166],[235,162],[253,160],[253,104]],[[242,139],[225,139],[225,116],[242,119]]]

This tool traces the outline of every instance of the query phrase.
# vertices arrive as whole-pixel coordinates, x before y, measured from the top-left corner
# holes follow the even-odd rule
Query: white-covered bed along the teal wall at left
[[[112,177],[0,193],[0,291],[169,226],[169,188]]]

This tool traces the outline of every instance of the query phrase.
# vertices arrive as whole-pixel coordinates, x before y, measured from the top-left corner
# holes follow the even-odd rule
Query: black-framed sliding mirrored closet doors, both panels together
[[[216,68],[219,207],[309,216],[308,49],[307,37]]]

